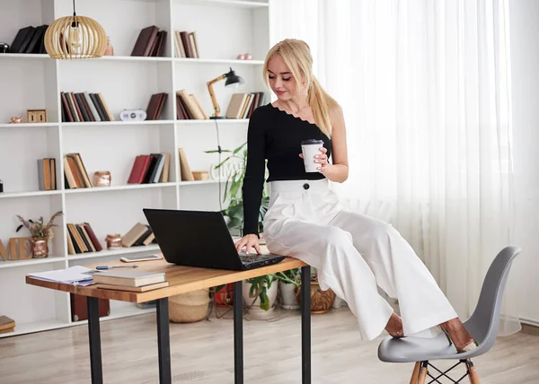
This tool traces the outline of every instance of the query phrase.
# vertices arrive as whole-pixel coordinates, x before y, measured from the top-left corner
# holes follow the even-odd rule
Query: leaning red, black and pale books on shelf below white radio
[[[128,184],[167,183],[170,166],[170,153],[139,154],[133,161]]]

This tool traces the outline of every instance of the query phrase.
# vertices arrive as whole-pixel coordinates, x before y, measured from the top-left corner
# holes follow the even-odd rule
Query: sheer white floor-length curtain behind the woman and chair
[[[351,209],[392,223],[466,319],[513,239],[508,0],[272,0],[345,113]],[[500,334],[520,329],[509,279]]]

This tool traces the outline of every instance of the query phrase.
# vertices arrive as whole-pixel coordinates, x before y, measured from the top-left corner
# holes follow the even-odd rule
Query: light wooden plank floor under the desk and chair
[[[246,384],[301,382],[300,319],[284,311],[278,321],[244,320]],[[157,383],[155,332],[154,314],[102,322],[104,382]],[[312,340],[313,383],[409,383],[412,366],[379,362],[379,340],[359,342],[347,308],[314,315]],[[171,355],[174,383],[234,383],[232,319],[171,323]],[[539,383],[539,337],[500,337],[475,364],[482,384]],[[0,382],[90,383],[87,327],[0,339]]]

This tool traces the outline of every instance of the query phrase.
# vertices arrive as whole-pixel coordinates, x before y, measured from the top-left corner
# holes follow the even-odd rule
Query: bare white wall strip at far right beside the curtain
[[[539,324],[539,1],[509,2],[519,314]]]

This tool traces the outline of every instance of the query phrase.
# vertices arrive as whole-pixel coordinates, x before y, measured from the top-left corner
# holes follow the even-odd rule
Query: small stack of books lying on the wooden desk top
[[[146,292],[164,288],[169,283],[163,272],[149,272],[140,269],[118,268],[93,274],[96,288],[118,291]]]

